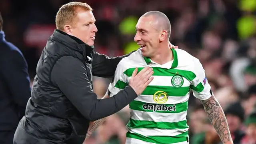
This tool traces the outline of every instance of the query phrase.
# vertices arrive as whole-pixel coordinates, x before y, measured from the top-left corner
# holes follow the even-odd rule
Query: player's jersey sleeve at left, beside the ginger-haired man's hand
[[[110,85],[108,86],[108,95],[110,97],[114,96],[120,90],[124,89],[126,86],[128,86],[128,76],[124,74],[125,66],[123,62],[121,61],[116,68],[114,78]]]

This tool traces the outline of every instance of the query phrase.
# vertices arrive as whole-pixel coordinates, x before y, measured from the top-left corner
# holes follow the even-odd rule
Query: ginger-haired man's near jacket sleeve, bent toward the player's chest
[[[130,86],[112,98],[97,99],[88,80],[84,64],[72,56],[60,58],[52,69],[51,80],[88,120],[94,121],[110,116],[137,97]]]

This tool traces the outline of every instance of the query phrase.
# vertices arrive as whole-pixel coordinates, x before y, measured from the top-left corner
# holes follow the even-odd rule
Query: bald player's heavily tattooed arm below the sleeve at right
[[[219,102],[212,95],[207,100],[201,100],[208,118],[218,133],[223,144],[232,144],[232,138],[228,128],[228,122]]]

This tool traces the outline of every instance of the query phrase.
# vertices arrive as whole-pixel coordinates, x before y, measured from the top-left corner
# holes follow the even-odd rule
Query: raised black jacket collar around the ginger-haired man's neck
[[[82,52],[85,57],[87,56],[91,57],[91,52],[94,50],[94,46],[89,46],[79,38],[76,38],[75,36],[71,36],[66,32],[63,32],[58,29],[54,30],[51,38],[58,39],[69,48],[72,48],[78,52]]]

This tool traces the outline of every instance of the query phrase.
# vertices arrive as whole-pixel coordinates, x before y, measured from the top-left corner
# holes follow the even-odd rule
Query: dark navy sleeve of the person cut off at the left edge
[[[4,55],[0,74],[12,94],[12,100],[19,107],[20,116],[24,116],[28,99],[31,97],[31,88],[28,65],[23,55],[16,50]]]

